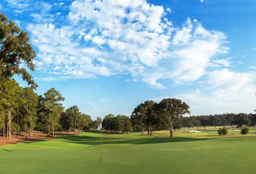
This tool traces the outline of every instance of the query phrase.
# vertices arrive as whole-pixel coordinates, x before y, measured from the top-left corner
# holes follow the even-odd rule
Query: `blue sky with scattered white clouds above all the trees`
[[[255,108],[255,1],[4,0],[0,10],[29,33],[37,93],[54,87],[92,118],[167,97],[192,115]]]

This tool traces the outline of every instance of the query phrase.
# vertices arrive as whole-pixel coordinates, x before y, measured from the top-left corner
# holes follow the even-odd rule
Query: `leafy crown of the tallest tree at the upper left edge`
[[[28,34],[20,31],[3,13],[0,13],[0,46],[0,77],[11,79],[15,74],[21,75],[32,88],[36,88],[33,77],[20,66],[25,63],[34,71],[33,60],[36,54],[29,44]]]

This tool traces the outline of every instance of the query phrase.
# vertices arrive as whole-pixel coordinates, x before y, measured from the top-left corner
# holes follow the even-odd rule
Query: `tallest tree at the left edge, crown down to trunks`
[[[33,60],[36,54],[29,44],[28,34],[20,31],[17,25],[8,20],[3,13],[0,13],[0,47],[0,105],[3,106],[4,104],[2,109],[5,110],[2,112],[4,114],[3,136],[5,136],[5,114],[7,112],[7,136],[10,139],[12,115],[15,112],[14,108],[16,108],[13,101],[17,99],[12,99],[12,97],[18,93],[13,95],[11,90],[5,90],[3,86],[7,83],[10,86],[15,84],[15,80],[12,77],[16,74],[21,75],[23,80],[26,80],[35,89],[37,84],[35,84],[33,77],[20,65],[24,63],[29,70],[34,71]],[[9,88],[11,89],[10,86]],[[18,86],[18,84],[15,86]]]

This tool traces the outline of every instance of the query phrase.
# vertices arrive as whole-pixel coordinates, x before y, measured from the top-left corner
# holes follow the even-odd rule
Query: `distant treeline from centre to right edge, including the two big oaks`
[[[189,106],[179,99],[163,99],[161,102],[145,101],[139,104],[131,115],[114,116],[106,115],[102,125],[108,133],[127,133],[130,131],[140,132],[147,130],[148,135],[152,135],[153,130],[170,130],[170,136],[173,130],[182,127],[204,126],[226,126],[237,125],[242,128],[243,125],[255,126],[256,114],[220,114],[183,117],[189,114]]]

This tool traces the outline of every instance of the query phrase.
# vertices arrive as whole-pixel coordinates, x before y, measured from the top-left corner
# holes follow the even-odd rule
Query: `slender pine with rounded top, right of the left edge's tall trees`
[[[52,137],[54,137],[54,125],[58,125],[60,115],[63,111],[62,104],[60,103],[60,101],[63,100],[65,100],[65,98],[62,97],[54,88],[51,88],[45,93],[44,105],[49,111],[49,122],[52,126]]]

